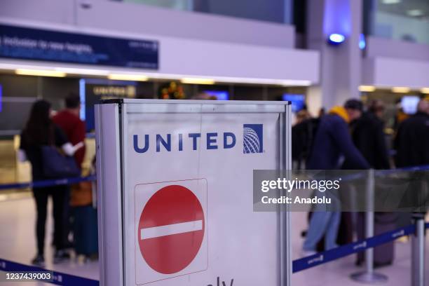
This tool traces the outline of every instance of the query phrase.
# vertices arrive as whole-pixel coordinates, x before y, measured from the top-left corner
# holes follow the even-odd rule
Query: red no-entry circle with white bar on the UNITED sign
[[[137,239],[146,263],[171,274],[189,266],[204,237],[204,212],[195,194],[184,186],[165,186],[147,201]]]

